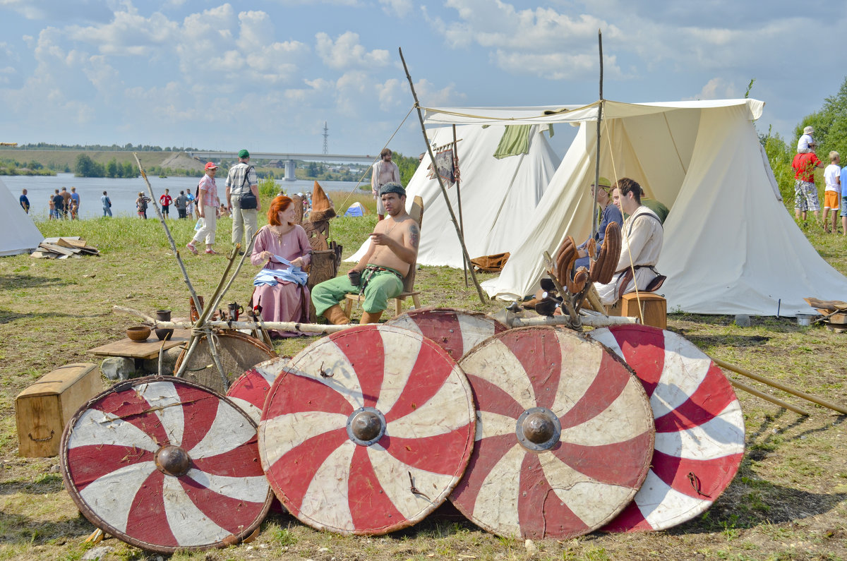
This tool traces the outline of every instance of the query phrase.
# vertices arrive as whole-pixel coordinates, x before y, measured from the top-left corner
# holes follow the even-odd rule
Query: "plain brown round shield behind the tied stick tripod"
[[[224,366],[224,372],[230,384],[244,374],[246,369],[277,357],[274,349],[268,347],[256,337],[241,333],[241,331],[213,332],[212,340],[218,349],[221,364]],[[180,357],[176,359],[176,364],[174,364],[174,372],[180,368],[180,364],[185,360],[187,353],[188,349],[183,349],[180,353]],[[224,387],[224,380],[221,380],[218,368],[214,365],[205,335],[200,337],[197,347],[191,353],[191,358],[188,359],[182,378],[197,382],[197,384],[211,388],[215,392],[226,393],[228,388]]]

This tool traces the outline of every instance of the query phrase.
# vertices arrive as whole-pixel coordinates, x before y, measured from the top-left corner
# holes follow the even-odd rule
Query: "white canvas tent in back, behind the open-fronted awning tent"
[[[506,127],[494,125],[457,126],[459,188],[462,192],[462,222],[471,258],[512,251],[518,233],[534,215],[535,206],[559,164],[540,127],[529,135],[529,153],[495,158],[494,153]],[[451,127],[427,131],[429,142],[443,146],[453,140]],[[416,195],[424,199],[424,223],[418,263],[462,267],[462,247],[450,219],[438,180],[429,178],[429,156],[418,166],[406,187],[407,209]],[[458,217],[457,188],[447,190]],[[358,261],[368,250],[366,241],[347,261]]]

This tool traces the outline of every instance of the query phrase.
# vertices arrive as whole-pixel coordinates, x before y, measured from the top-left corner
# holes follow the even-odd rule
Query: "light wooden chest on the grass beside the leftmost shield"
[[[97,364],[66,364],[42,376],[14,400],[18,453],[25,458],[57,456],[62,430],[77,409],[102,392]]]

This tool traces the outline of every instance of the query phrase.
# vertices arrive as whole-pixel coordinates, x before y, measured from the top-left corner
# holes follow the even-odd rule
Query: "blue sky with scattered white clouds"
[[[428,106],[752,97],[794,125],[838,92],[847,3],[0,0],[0,142],[424,149]],[[566,131],[562,131],[563,133]],[[554,138],[562,153],[567,134]],[[559,140],[557,140],[559,139]]]

